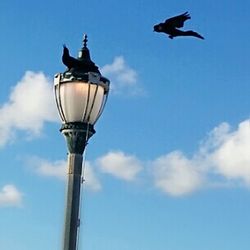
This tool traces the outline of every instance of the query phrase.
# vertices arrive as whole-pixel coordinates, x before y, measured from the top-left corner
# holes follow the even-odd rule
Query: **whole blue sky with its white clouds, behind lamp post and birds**
[[[53,99],[84,33],[111,80],[86,152],[79,249],[247,250],[250,3],[0,3],[0,247],[61,249],[66,145]],[[168,39],[153,25],[189,11]]]

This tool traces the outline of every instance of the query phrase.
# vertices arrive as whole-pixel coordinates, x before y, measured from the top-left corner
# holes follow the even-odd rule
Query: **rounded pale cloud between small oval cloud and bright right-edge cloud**
[[[196,162],[187,159],[181,152],[161,156],[152,163],[155,186],[174,196],[197,190],[203,177]]]

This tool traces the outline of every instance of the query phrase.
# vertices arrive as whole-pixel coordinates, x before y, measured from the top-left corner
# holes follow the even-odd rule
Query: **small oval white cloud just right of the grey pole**
[[[97,160],[97,164],[104,173],[117,178],[133,181],[142,170],[141,162],[133,155],[126,155],[121,151],[109,152]]]

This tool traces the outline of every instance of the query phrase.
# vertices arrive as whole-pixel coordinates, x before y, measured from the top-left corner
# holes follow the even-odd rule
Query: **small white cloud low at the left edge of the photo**
[[[22,204],[22,193],[14,185],[5,185],[0,190],[0,207],[19,207]]]

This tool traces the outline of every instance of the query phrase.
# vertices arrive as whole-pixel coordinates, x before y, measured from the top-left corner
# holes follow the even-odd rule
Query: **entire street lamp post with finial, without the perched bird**
[[[94,125],[107,101],[109,80],[103,77],[91,61],[84,35],[83,47],[72,67],[54,77],[55,99],[62,120],[61,133],[68,148],[68,182],[63,250],[75,250],[79,227],[83,152]]]

